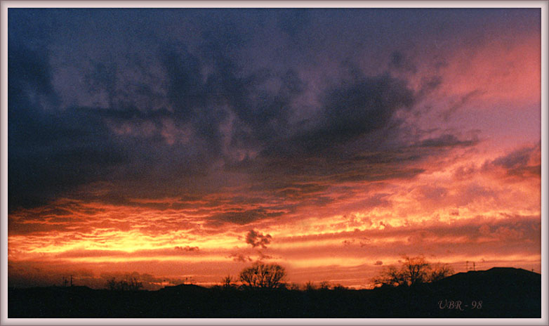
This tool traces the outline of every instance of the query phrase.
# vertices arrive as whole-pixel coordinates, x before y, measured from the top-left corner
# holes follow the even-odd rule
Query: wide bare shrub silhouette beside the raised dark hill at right
[[[423,256],[403,256],[400,268],[388,266],[373,279],[374,285],[414,286],[425,282],[436,282],[452,275],[454,271],[446,264],[432,265]]]

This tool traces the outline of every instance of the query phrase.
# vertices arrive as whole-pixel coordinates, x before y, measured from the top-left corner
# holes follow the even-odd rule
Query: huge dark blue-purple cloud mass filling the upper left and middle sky
[[[222,185],[213,174],[239,172],[273,194],[314,195],[322,204],[333,200],[324,195],[329,183],[414,177],[424,170],[411,164],[475,141],[404,133],[399,113],[411,112],[439,78],[414,91],[402,76],[357,69],[373,22],[401,15],[10,9],[10,209],[100,182],[109,190],[88,197],[135,204],[128,198],[215,193]],[[351,29],[355,23],[369,36]],[[345,56],[326,51],[336,41]],[[336,68],[324,67],[324,56]],[[380,58],[414,70],[402,50]],[[315,85],[304,67],[326,80]],[[280,214],[244,209],[211,221]]]

